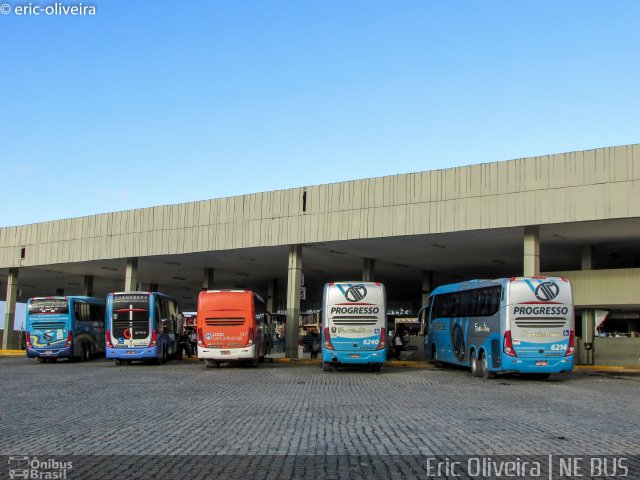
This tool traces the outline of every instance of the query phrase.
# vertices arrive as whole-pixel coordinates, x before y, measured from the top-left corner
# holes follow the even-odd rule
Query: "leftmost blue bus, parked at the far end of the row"
[[[27,302],[27,356],[89,360],[104,353],[104,300],[80,296],[35,297]]]

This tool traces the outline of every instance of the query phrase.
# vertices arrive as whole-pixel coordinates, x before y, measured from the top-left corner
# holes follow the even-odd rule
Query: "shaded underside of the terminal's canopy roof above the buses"
[[[639,240],[639,218],[544,225],[542,271],[579,270],[584,245],[594,247],[594,268],[640,266]],[[385,283],[390,300],[418,302],[423,270],[434,272],[436,284],[520,275],[522,251],[521,227],[307,244],[307,305],[320,302],[325,282],[361,278],[363,258],[376,260],[376,280]],[[215,288],[247,288],[265,295],[269,280],[277,279],[282,304],[287,255],[287,246],[277,246],[141,257],[138,281],[143,289],[158,284],[184,311],[193,311],[207,267],[215,271]],[[121,290],[125,264],[125,259],[108,259],[23,267],[19,300],[54,294],[59,288],[80,294],[84,275],[94,277],[97,296]],[[7,273],[0,269],[0,283],[6,282]]]

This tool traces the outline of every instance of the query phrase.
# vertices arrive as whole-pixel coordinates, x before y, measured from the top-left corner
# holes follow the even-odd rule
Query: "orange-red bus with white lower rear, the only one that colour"
[[[262,297],[249,290],[200,292],[196,320],[198,358],[207,367],[222,362],[257,366],[269,350],[267,311]]]

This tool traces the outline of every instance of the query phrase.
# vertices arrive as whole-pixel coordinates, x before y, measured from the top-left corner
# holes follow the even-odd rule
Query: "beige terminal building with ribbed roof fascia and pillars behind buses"
[[[326,282],[381,281],[403,318],[437,285],[521,275],[571,280],[578,363],[640,366],[640,145],[0,228],[5,325],[34,296],[158,290],[193,311],[242,288],[297,332]]]

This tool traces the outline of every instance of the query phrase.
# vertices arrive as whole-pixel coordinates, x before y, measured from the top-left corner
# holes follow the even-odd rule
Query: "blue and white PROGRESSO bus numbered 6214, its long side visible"
[[[566,278],[512,277],[443,285],[430,295],[425,352],[476,377],[573,369],[575,327]]]

